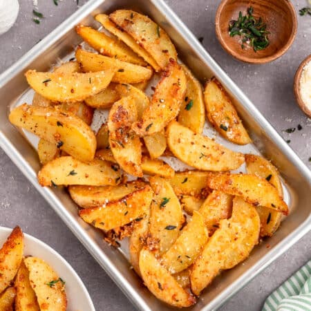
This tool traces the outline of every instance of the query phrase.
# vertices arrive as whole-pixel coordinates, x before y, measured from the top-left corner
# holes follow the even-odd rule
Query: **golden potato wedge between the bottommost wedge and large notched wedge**
[[[196,261],[208,238],[203,216],[194,211],[189,223],[182,228],[180,236],[162,256],[162,265],[167,267],[171,274],[187,269]]]

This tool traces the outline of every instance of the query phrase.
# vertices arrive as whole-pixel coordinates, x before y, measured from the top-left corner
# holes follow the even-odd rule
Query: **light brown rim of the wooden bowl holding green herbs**
[[[290,17],[292,18],[292,22],[293,22],[292,32],[290,33],[290,38],[288,39],[286,44],[282,48],[277,50],[276,53],[274,53],[273,55],[269,55],[267,57],[262,57],[262,58],[254,58],[254,57],[246,56],[243,53],[236,53],[234,50],[232,50],[231,48],[227,46],[227,43],[225,39],[223,38],[222,33],[220,32],[220,23],[219,23],[220,14],[221,12],[223,12],[223,8],[227,5],[228,1],[229,0],[222,0],[217,8],[216,16],[215,16],[215,25],[216,25],[215,30],[216,30],[216,37],[218,41],[220,42],[220,45],[229,55],[232,55],[232,57],[234,57],[235,59],[238,59],[242,62],[246,62],[249,64],[266,64],[284,55],[288,51],[290,46],[292,46],[294,39],[296,38],[296,32],[297,32],[297,15],[296,15],[296,11],[294,9],[292,2],[288,0],[282,0],[283,3],[286,6],[288,6],[288,8],[290,9]],[[256,2],[256,0],[252,0],[252,2]]]

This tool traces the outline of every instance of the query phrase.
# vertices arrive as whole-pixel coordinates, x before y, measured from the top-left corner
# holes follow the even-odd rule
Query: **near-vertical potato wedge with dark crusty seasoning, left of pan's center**
[[[133,97],[123,97],[113,104],[108,117],[109,144],[120,167],[133,176],[142,177],[142,146],[138,135],[131,131],[137,120]]]

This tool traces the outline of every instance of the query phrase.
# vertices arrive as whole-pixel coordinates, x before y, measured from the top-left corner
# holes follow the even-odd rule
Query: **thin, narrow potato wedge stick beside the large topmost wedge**
[[[135,53],[140,55],[147,63],[149,63],[154,70],[160,71],[161,68],[157,64],[157,62],[151,57],[151,55],[138,44],[133,37],[131,37],[128,33],[124,32],[123,30],[120,30],[115,23],[113,23],[108,15],[105,14],[99,14],[95,16],[95,19],[99,21],[106,30],[111,32],[113,35],[118,37],[121,41],[124,42],[127,46],[129,46]]]

